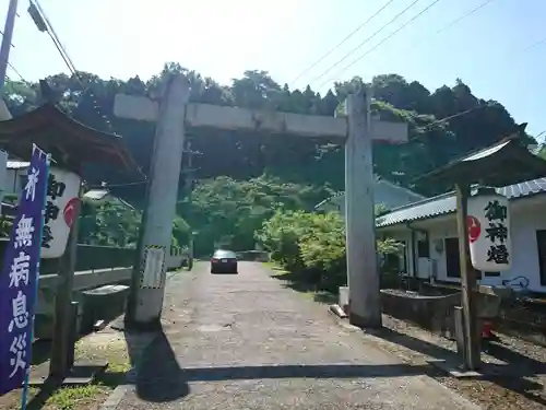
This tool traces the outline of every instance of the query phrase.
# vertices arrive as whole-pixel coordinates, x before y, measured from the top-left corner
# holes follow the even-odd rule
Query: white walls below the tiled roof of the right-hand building
[[[539,198],[539,200],[537,200]],[[524,276],[530,280],[529,290],[546,293],[546,285],[541,284],[541,272],[538,261],[538,248],[536,231],[546,230],[546,196],[535,197],[532,200],[521,199],[512,202],[510,231],[512,237],[512,267],[510,270],[500,272],[498,277],[483,277],[479,283],[486,285],[502,285],[502,281]],[[460,282],[459,278],[448,277],[446,258],[446,238],[456,238],[455,216],[439,218],[436,221],[423,221],[412,223],[419,230],[426,230],[429,235],[430,258],[418,258],[413,251],[412,235],[407,227],[379,230],[380,233],[395,239],[406,241],[408,260],[408,274],[414,276],[413,265],[410,262],[414,257],[417,261],[416,276],[428,279],[436,272],[436,279],[447,282]],[[443,250],[440,248],[443,245]]]

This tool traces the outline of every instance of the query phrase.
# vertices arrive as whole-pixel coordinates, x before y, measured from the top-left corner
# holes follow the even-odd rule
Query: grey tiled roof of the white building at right
[[[497,188],[496,191],[509,199],[525,198],[537,194],[546,194],[546,178],[527,180],[508,187]],[[448,192],[423,201],[410,203],[393,209],[391,212],[379,216],[377,227],[385,227],[399,223],[426,220],[434,216],[453,213],[456,210],[455,195]]]

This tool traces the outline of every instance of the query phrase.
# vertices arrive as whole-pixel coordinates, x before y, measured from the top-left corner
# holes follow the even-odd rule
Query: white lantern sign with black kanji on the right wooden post
[[[510,212],[508,198],[482,188],[468,198],[468,242],[472,266],[485,272],[511,267]]]

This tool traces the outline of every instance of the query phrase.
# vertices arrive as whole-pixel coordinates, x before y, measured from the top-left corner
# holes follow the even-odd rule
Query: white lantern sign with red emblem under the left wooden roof
[[[41,238],[41,257],[58,258],[64,254],[74,210],[79,202],[80,176],[69,171],[51,167],[47,181],[45,225]]]

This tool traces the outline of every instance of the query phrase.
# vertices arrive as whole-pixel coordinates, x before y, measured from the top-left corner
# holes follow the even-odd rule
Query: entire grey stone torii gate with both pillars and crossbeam
[[[367,91],[348,95],[346,116],[341,118],[191,104],[189,94],[188,80],[178,74],[168,79],[159,102],[124,94],[116,96],[116,116],[157,122],[144,231],[139,244],[141,259],[140,266],[134,267],[127,326],[145,329],[159,325],[166,274],[161,249],[165,255],[170,246],[186,127],[324,138],[345,144],[349,320],[361,327],[381,326],[371,141],[405,142],[407,125],[371,118],[371,96]]]

